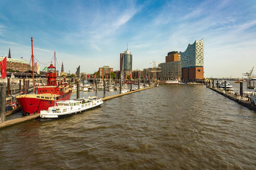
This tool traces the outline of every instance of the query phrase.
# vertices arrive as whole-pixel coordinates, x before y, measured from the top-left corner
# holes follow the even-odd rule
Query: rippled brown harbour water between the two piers
[[[0,130],[0,169],[255,169],[255,126],[255,111],[205,86],[161,84]]]

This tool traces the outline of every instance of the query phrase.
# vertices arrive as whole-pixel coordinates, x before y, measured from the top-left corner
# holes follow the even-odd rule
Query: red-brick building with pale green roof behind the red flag
[[[0,56],[0,61],[4,60],[4,56]],[[30,64],[27,60],[21,60],[21,59],[12,59],[10,54],[10,48],[9,48],[9,54],[8,58],[6,58],[6,64],[7,64],[7,71],[8,69],[18,71],[18,72],[27,72],[30,70]],[[1,68],[1,66],[0,66]]]

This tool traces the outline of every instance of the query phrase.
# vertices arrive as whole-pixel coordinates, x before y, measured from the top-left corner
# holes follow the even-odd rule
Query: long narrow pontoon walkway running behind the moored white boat
[[[122,94],[118,94],[118,95],[108,96],[108,97],[104,97],[102,99],[103,99],[103,101],[106,101],[106,100],[110,100],[111,98],[120,97],[120,96],[123,96],[123,95],[139,92],[139,91],[142,91],[142,90],[147,90],[147,89],[150,89],[150,88],[153,88],[153,87],[148,87],[148,88],[145,88],[145,89],[139,89],[139,90],[135,90],[135,91],[127,92],[127,93],[122,93]],[[33,119],[38,118],[39,116],[40,116],[40,114],[34,114],[34,115],[24,116],[24,117],[17,118],[17,119],[7,120],[7,121],[4,121],[4,122],[0,123],[0,129],[2,129],[3,127],[8,127],[8,126],[11,126],[11,125],[15,125],[15,124],[23,123],[23,122],[26,122],[26,121],[29,121],[29,120],[33,120]]]

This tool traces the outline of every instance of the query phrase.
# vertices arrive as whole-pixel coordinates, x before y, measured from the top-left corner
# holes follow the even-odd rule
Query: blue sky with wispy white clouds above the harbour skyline
[[[0,1],[0,56],[57,69],[119,70],[120,53],[133,69],[165,62],[204,38],[204,76],[241,77],[256,67],[256,1]],[[256,68],[255,68],[256,70]],[[254,75],[256,71],[254,70]]]

